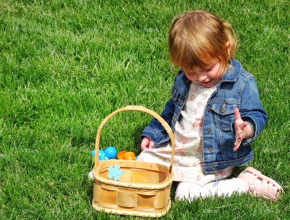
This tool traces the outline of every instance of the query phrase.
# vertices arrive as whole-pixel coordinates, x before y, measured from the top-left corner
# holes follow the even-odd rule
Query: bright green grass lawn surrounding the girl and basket
[[[287,219],[289,8],[286,0],[2,0],[0,218],[137,219],[91,207],[87,174],[97,129],[126,105],[162,112],[174,79],[167,51],[172,18],[205,9],[233,25],[240,38],[236,58],[256,77],[269,115],[247,165],[279,182],[285,195],[276,203],[249,195],[173,202],[162,219]],[[102,130],[101,148],[138,154],[150,120],[119,113]]]

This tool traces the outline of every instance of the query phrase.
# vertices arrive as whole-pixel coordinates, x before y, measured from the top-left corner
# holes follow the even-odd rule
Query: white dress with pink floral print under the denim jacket
[[[175,125],[174,180],[197,183],[201,186],[231,175],[234,167],[205,174],[202,155],[202,123],[205,106],[215,86],[210,88],[192,82],[188,97]],[[234,146],[233,146],[234,147]],[[143,150],[137,160],[170,166],[171,143]]]

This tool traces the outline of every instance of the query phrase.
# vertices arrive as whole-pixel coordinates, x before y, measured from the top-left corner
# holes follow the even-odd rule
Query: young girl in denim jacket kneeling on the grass
[[[172,23],[169,55],[181,68],[161,117],[174,132],[175,199],[236,191],[276,201],[283,190],[252,167],[226,180],[253,159],[250,143],[267,119],[256,79],[233,59],[236,43],[231,25],[207,11],[189,11]],[[141,139],[138,160],[169,166],[171,143],[159,121],[153,119]]]

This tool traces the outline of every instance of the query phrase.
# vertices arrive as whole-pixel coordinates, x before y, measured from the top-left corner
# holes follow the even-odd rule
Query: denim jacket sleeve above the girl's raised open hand
[[[257,88],[256,79],[250,77],[247,79],[245,86],[241,93],[241,103],[240,103],[240,115],[243,121],[247,121],[248,124],[253,128],[253,137],[249,139],[244,139],[242,141],[243,145],[248,145],[252,143],[259,134],[264,130],[267,113],[265,109],[261,106],[259,92]],[[232,131],[235,132],[234,122],[232,123]]]

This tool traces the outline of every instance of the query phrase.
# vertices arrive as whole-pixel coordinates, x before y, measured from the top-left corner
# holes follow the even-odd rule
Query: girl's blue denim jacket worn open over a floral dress
[[[205,107],[202,125],[203,170],[213,173],[231,166],[242,166],[254,158],[250,145],[265,128],[267,114],[261,106],[256,79],[245,71],[241,63],[231,59],[233,68],[229,68],[221,82],[217,83]],[[160,115],[174,131],[180,112],[185,104],[191,81],[180,69],[174,79],[171,99],[166,103]],[[224,108],[222,108],[224,106]],[[235,108],[239,108],[243,121],[253,128],[253,136],[244,139],[240,147],[234,151]],[[143,133],[155,145],[160,146],[169,141],[169,135],[159,121],[153,119]]]

